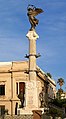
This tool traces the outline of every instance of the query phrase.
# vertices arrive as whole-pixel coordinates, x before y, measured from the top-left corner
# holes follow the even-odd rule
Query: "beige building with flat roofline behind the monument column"
[[[35,94],[35,90],[29,90],[29,87],[33,87],[33,83],[29,80],[29,62],[0,62],[0,115],[4,110],[8,110],[9,114],[16,114],[16,108],[20,108],[20,100],[18,94],[22,90],[24,93],[24,107],[23,110],[27,110],[30,107],[33,99],[31,97]],[[36,66],[36,81],[37,81],[37,105],[41,107],[39,94],[44,87],[45,102],[47,103],[48,97],[54,98],[56,92],[55,81],[50,79],[38,66]],[[29,82],[29,83],[28,83]],[[28,97],[31,98],[30,102]],[[29,103],[29,105],[28,105]]]

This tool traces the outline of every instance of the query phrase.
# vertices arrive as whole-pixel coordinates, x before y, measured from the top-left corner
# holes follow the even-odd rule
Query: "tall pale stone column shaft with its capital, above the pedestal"
[[[29,80],[36,80],[36,40],[39,38],[35,30],[26,35],[29,39]]]

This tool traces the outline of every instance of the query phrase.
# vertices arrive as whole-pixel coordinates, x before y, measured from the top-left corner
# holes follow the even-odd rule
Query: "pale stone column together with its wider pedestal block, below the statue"
[[[38,92],[36,80],[36,40],[39,38],[35,30],[26,35],[29,40],[29,81],[26,85],[26,105],[29,108],[38,108]]]

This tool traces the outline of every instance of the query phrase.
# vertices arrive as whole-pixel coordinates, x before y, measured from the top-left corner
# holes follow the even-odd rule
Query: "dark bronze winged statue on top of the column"
[[[35,18],[38,14],[42,13],[43,10],[40,8],[36,8],[34,5],[28,5],[28,17],[29,17],[29,22],[31,24],[31,29],[35,29],[36,25],[38,25],[39,20]]]

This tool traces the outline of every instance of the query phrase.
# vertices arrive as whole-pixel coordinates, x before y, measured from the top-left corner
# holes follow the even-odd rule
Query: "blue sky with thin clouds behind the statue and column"
[[[26,60],[28,4],[44,10],[37,16],[37,53],[41,54],[37,64],[56,82],[60,77],[66,82],[66,0],[0,0],[0,62]]]

